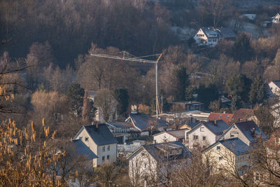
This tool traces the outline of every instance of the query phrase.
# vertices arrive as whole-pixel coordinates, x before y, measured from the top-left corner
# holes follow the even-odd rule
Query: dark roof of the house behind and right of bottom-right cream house
[[[268,139],[265,133],[260,130],[257,124],[253,120],[248,120],[244,122],[235,123],[239,130],[244,134],[244,136],[248,139],[248,141],[255,141],[256,137],[262,139]],[[255,135],[253,134],[253,128],[255,128]]]

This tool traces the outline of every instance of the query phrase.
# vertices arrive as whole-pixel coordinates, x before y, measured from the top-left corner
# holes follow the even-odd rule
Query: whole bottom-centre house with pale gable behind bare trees
[[[180,141],[141,146],[128,157],[132,186],[165,183],[173,169],[188,164],[191,155]]]

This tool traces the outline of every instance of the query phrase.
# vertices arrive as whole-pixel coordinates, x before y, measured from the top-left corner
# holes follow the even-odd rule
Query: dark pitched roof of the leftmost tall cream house
[[[118,143],[105,123],[98,124],[98,127],[97,125],[83,126],[73,139],[77,139],[80,132],[82,132],[84,129],[88,132],[97,146]]]

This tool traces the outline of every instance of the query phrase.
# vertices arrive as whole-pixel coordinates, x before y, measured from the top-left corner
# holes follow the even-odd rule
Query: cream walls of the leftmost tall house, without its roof
[[[98,146],[88,134],[85,128],[78,134],[76,139],[80,139],[83,143],[90,148],[90,150],[98,156],[94,158],[92,167],[97,167],[103,162],[113,163],[117,160],[117,144],[106,144]]]

